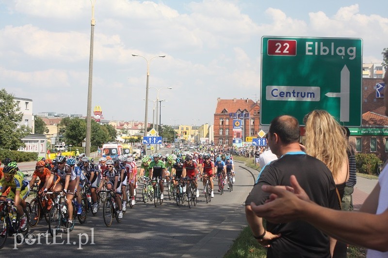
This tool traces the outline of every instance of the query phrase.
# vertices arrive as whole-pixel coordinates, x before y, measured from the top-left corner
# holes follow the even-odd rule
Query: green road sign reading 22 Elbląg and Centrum
[[[361,126],[362,39],[261,38],[260,124],[324,109]]]

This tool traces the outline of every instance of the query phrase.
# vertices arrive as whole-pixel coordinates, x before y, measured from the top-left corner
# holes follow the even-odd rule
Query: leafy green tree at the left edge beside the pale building
[[[0,90],[0,146],[4,149],[17,150],[24,147],[21,139],[31,134],[31,128],[19,125],[23,113],[14,101],[14,96],[5,89]]]

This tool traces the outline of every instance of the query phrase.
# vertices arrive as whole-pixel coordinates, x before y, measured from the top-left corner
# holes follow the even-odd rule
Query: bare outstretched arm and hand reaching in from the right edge
[[[273,194],[270,198],[272,201],[259,206],[252,202],[253,212],[273,223],[305,220],[342,242],[388,251],[388,209],[378,215],[331,210],[298,198],[297,195],[303,189],[295,177],[291,176],[290,182],[295,194],[281,187],[264,185],[262,189]],[[378,189],[375,187],[371,195],[376,195]],[[378,198],[372,200],[368,197],[367,201],[377,203]]]

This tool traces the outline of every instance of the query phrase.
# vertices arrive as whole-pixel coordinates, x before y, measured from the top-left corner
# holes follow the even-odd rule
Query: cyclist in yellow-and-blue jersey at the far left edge
[[[1,199],[14,201],[17,213],[20,215],[20,228],[24,229],[27,225],[27,217],[23,212],[23,207],[26,207],[24,199],[30,193],[30,185],[23,179],[23,174],[17,173],[16,167],[3,167],[3,174],[4,176],[0,179]],[[7,190],[9,187],[10,191]],[[4,233],[5,229],[1,235],[3,236]]]

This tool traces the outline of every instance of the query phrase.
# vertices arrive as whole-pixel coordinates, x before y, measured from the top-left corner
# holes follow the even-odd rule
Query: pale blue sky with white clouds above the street
[[[144,120],[146,61],[162,123],[212,122],[217,97],[259,100],[262,36],[362,38],[363,61],[388,47],[386,2],[97,0],[93,107]],[[0,0],[0,87],[33,113],[86,114],[90,0]],[[149,98],[156,99],[156,90]],[[152,122],[152,101],[149,121]],[[198,121],[199,120],[199,121]]]

